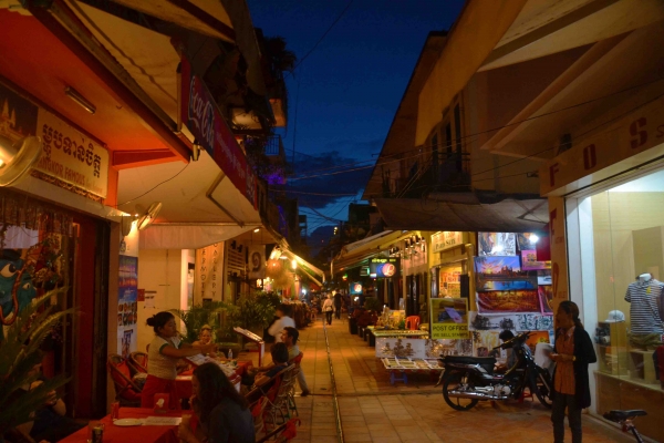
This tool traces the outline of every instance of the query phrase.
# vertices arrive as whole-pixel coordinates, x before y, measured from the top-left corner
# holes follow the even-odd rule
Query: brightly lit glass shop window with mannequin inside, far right
[[[570,269],[580,264],[570,271],[571,299],[598,354],[594,412],[644,409],[639,430],[664,441],[664,171],[567,206],[568,231],[578,234],[568,245]]]

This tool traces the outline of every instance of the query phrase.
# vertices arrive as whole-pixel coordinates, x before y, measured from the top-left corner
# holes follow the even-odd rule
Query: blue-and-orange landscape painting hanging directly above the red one
[[[537,271],[522,270],[519,257],[475,257],[475,288],[484,291],[537,290]]]

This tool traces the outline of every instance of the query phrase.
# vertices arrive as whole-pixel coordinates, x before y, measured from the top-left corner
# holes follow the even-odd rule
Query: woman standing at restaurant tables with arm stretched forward
[[[175,385],[177,361],[185,357],[215,351],[215,344],[180,342],[175,317],[170,312],[158,312],[147,319],[155,330],[155,338],[147,351],[147,379],[141,393],[141,408],[153,408],[155,394],[169,394],[169,409],[179,410],[179,395]]]

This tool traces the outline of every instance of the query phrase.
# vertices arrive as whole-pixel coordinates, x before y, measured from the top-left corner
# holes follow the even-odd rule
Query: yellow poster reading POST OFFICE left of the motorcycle
[[[429,302],[433,339],[468,338],[468,299],[433,298]]]

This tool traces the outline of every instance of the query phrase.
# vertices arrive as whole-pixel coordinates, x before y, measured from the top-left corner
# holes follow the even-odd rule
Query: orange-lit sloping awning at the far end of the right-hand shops
[[[366,265],[371,257],[390,249],[396,243],[408,238],[412,233],[385,230],[362,240],[351,243],[341,249],[332,260],[332,274]]]

